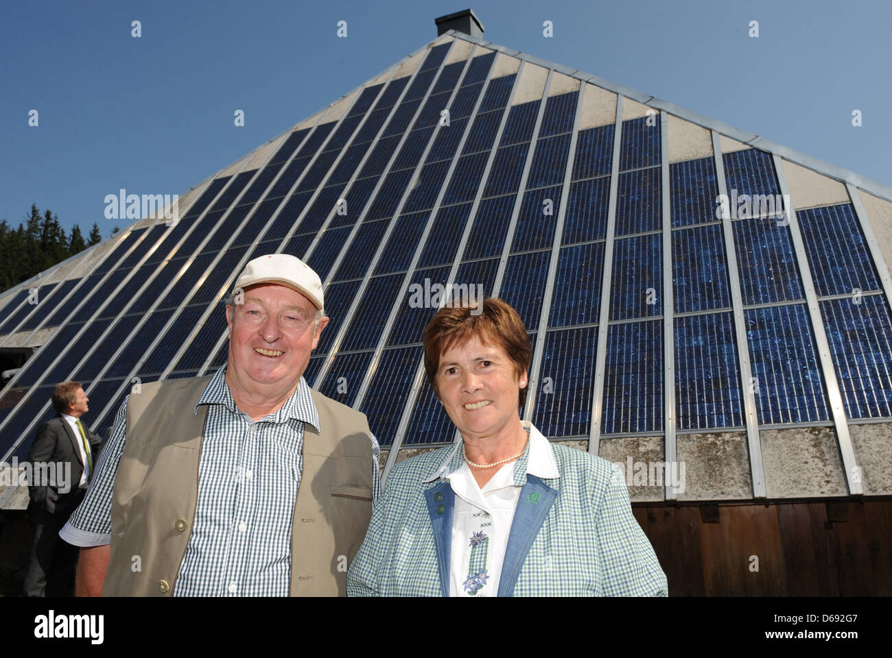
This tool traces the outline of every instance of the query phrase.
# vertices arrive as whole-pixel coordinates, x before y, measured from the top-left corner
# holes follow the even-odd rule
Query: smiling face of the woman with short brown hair
[[[492,436],[517,419],[518,389],[526,374],[517,374],[508,353],[473,338],[442,353],[437,389],[446,413],[466,438]]]

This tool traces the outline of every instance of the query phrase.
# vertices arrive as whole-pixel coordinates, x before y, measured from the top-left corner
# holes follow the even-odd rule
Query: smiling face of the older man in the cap
[[[227,380],[249,399],[293,391],[310,352],[328,324],[315,323],[316,307],[285,285],[261,284],[244,291],[244,303],[227,306]]]

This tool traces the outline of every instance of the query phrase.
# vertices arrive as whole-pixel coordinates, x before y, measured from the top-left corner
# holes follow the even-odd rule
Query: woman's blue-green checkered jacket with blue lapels
[[[455,496],[442,473],[461,465],[460,448],[458,440],[393,467],[347,574],[348,596],[449,595]],[[606,459],[550,448],[558,478],[526,473],[529,448],[515,464],[523,489],[498,595],[666,596],[665,573],[632,516],[622,474],[614,476]]]

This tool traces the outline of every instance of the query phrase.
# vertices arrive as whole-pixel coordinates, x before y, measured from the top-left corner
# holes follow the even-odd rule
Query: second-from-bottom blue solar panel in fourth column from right
[[[615,241],[611,320],[663,313],[662,240],[649,234]]]

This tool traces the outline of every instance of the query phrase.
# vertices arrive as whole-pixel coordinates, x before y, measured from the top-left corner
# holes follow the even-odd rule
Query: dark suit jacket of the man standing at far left
[[[90,432],[86,423],[81,421],[81,424],[84,425],[84,431],[87,432],[95,469],[99,450],[102,448],[102,438],[98,434]],[[70,514],[74,511],[73,508],[78,498],[78,483],[80,476],[84,473],[84,463],[80,457],[80,442],[78,432],[71,429],[70,424],[62,418],[62,415],[57,415],[46,421],[37,430],[37,439],[34,440],[34,445],[31,446],[28,455],[32,473],[37,474],[37,470],[33,469],[33,466],[41,462],[54,462],[57,465],[70,462],[71,475],[70,481],[63,482],[64,472],[57,467],[57,486],[50,486],[46,481],[39,481],[37,484],[32,481],[28,489],[34,505],[45,509],[50,514]],[[93,477],[93,473],[90,473],[90,477]],[[69,490],[60,493],[59,489],[66,489],[66,486]]]

